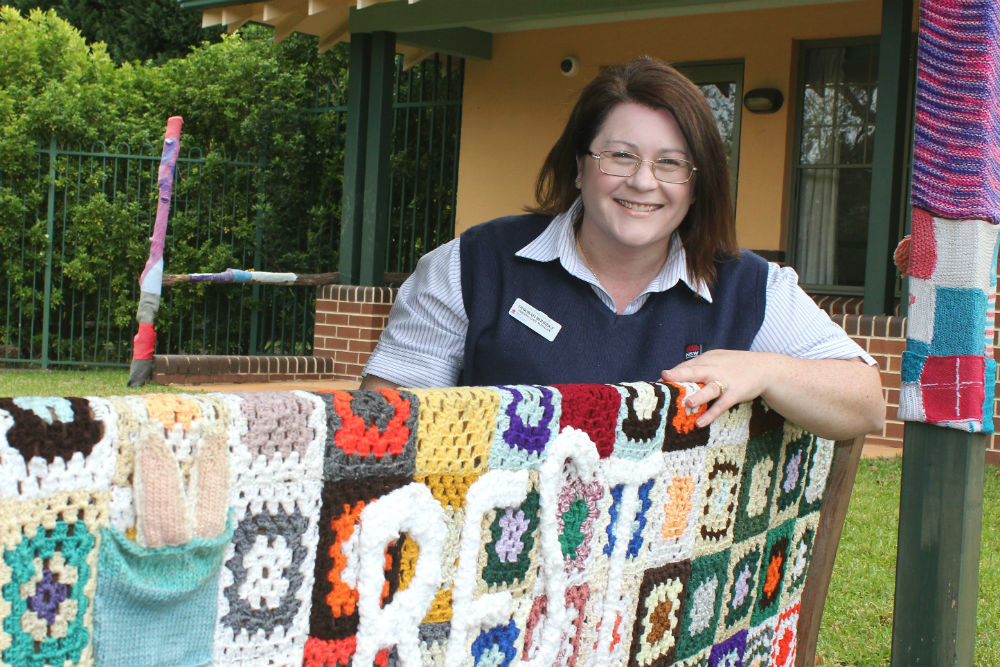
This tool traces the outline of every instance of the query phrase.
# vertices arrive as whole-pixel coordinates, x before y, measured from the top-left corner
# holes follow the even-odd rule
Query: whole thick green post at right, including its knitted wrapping
[[[922,0],[892,665],[971,665],[1000,223],[1000,7]],[[944,427],[944,428],[941,428]]]

